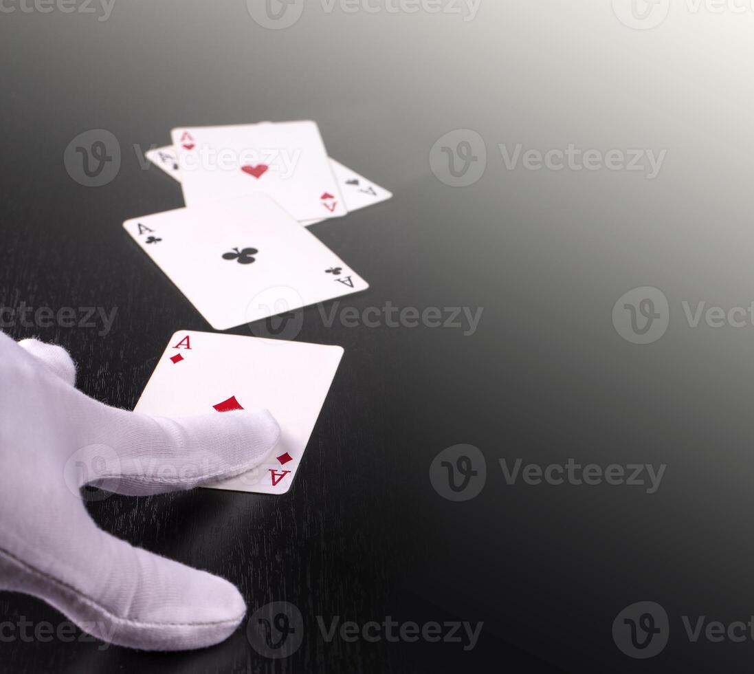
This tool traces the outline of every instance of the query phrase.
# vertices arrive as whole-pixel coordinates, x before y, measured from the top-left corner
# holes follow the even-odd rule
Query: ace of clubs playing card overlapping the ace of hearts
[[[123,226],[216,330],[369,288],[265,195],[137,217]]]

